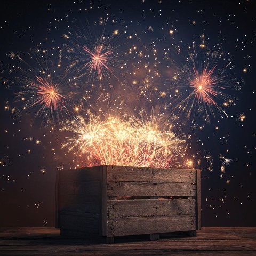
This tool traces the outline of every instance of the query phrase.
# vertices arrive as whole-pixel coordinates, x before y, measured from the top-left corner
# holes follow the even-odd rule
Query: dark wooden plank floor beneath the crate
[[[0,255],[256,255],[256,227],[202,228],[196,237],[162,234],[115,238],[115,244],[70,239],[59,229],[0,227]]]

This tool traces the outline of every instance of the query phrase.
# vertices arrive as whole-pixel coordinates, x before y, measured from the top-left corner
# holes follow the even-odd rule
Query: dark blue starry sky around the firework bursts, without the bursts
[[[165,115],[177,115],[175,127],[187,139],[184,158],[193,159],[193,167],[202,169],[203,226],[255,226],[255,7],[254,1],[245,0],[2,1],[0,225],[53,226],[55,170],[79,162],[61,149],[66,136],[60,131],[62,118],[47,122],[35,115],[37,106],[22,110],[25,105],[17,93],[25,91],[25,84],[19,67],[27,70],[26,62],[36,70],[33,52],[39,49],[46,50],[55,64],[60,63],[61,53],[57,73],[63,72],[70,64],[66,51],[71,43],[65,38],[70,27],[86,30],[90,23],[90,31],[97,35],[102,33],[100,21],[108,18],[106,34],[123,31],[117,38],[118,63],[113,69],[118,79],[106,79],[103,89],[95,82],[93,89],[90,77],[79,77],[74,106],[65,118],[77,114],[75,106],[81,109],[79,114],[90,104],[95,107],[102,91],[109,94],[109,105],[119,106],[120,111],[150,111],[154,106],[164,109]],[[221,47],[217,69],[231,62],[224,80],[230,82],[225,93],[232,103],[225,107],[222,98],[217,99],[228,118],[215,109],[209,121],[198,109],[195,118],[172,113],[175,90],[183,88],[173,83],[173,70],[186,67],[187,49],[193,42],[202,61],[203,51]],[[74,77],[78,70],[68,75]],[[167,96],[159,97],[161,92]],[[225,173],[221,173],[220,155],[233,161],[225,166]]]

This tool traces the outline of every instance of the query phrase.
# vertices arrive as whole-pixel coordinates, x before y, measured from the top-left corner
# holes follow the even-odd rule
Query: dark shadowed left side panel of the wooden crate
[[[101,166],[59,172],[61,230],[99,234]]]

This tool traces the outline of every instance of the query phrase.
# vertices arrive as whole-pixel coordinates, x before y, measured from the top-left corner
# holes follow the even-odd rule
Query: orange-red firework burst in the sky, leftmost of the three
[[[35,116],[42,119],[54,119],[69,114],[69,108],[73,104],[73,96],[77,90],[75,77],[71,76],[70,66],[63,71],[60,63],[57,67],[47,57],[47,51],[36,51],[31,55],[33,66],[21,58],[26,69],[19,67],[25,84],[17,93],[20,101],[25,103],[24,109],[32,109]]]

